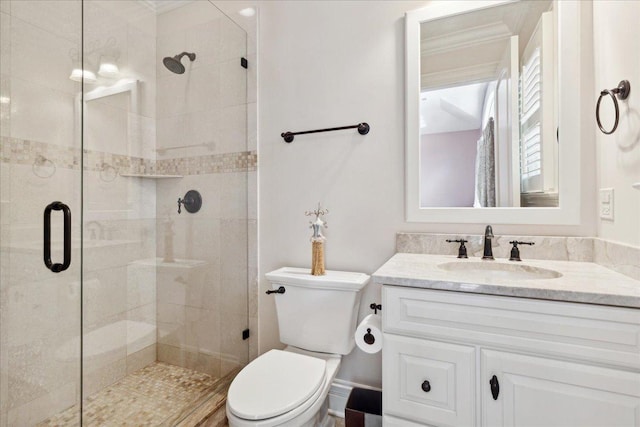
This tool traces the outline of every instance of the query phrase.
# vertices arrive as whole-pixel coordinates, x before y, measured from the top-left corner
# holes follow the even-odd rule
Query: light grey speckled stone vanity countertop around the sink
[[[452,262],[495,263],[555,270],[561,277],[510,280],[500,275],[447,271],[438,265]],[[372,276],[375,283],[476,294],[537,298],[640,308],[640,281],[591,262],[505,259],[482,261],[452,255],[398,253]]]

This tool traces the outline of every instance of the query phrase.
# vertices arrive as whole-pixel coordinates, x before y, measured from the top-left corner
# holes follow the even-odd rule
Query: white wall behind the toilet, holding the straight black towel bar
[[[395,233],[475,233],[484,224],[404,220],[404,13],[426,1],[260,3],[258,77],[260,351],[280,347],[264,273],[309,266],[304,211],[329,208],[327,268],[373,273],[395,253]],[[284,131],[355,124],[371,132],[322,133],[286,144]],[[595,168],[586,144],[583,168]],[[594,235],[595,176],[585,178],[578,226],[497,225],[494,233]],[[380,301],[366,289],[360,318]],[[342,379],[380,385],[380,355],[355,350]]]

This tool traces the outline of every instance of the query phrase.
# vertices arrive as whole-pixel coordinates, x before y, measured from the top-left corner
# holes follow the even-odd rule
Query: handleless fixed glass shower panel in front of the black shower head
[[[83,39],[83,424],[177,425],[248,360],[246,33],[84,0]]]

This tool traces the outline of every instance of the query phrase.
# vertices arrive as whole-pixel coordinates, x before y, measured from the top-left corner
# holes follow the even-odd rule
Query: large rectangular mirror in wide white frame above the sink
[[[571,0],[406,14],[407,221],[579,222],[579,15]]]

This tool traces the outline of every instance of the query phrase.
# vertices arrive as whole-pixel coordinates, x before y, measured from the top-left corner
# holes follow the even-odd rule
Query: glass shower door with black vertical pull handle
[[[78,424],[82,3],[0,15],[0,426]]]

